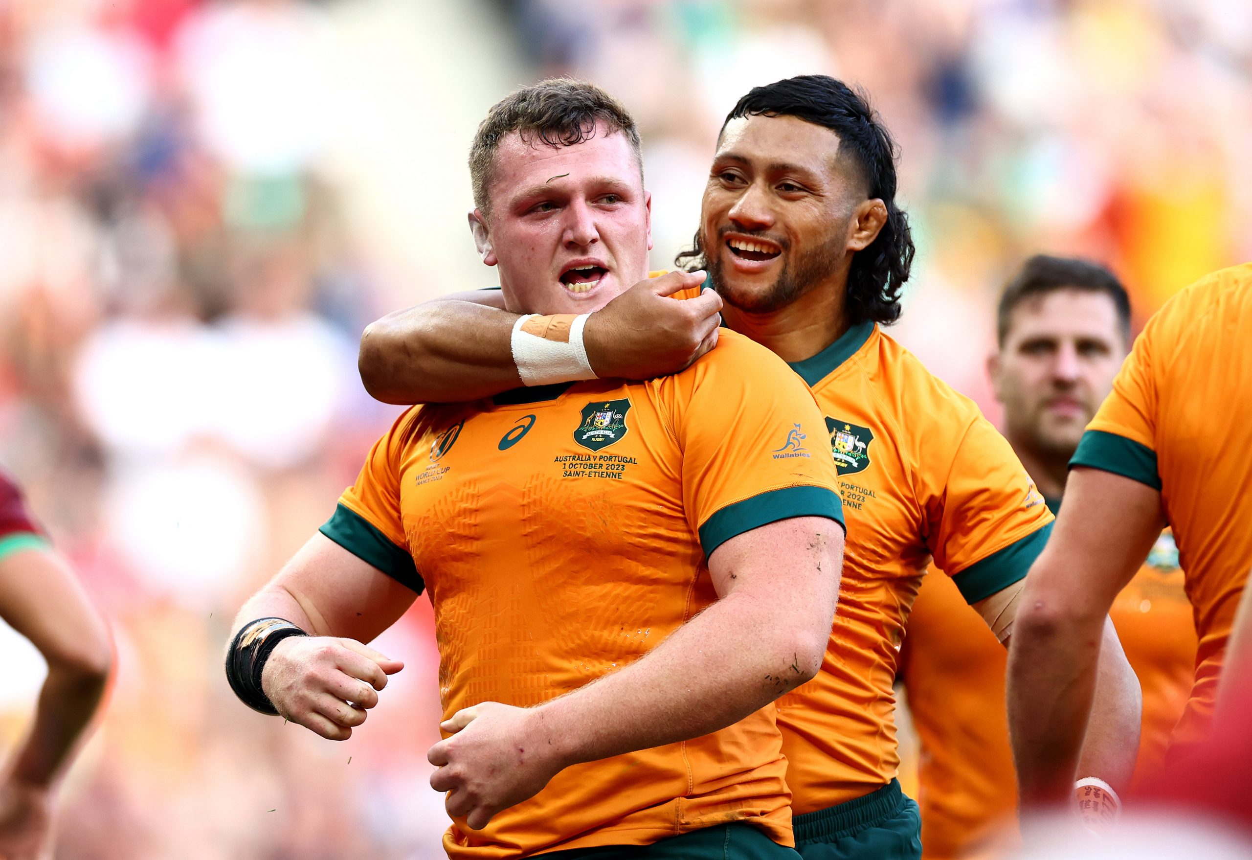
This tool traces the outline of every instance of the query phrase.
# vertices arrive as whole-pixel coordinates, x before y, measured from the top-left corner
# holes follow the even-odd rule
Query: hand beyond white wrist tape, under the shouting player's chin
[[[721,297],[670,298],[699,287],[704,272],[670,272],[641,280],[587,318],[582,342],[601,378],[651,379],[685,371],[717,346]]]

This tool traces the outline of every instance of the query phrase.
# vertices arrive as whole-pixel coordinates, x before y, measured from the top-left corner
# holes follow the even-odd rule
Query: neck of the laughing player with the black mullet
[[[829,347],[848,330],[844,318],[845,284],[819,284],[776,310],[752,313],[726,303],[726,325],[750,337],[785,362],[803,362]]]

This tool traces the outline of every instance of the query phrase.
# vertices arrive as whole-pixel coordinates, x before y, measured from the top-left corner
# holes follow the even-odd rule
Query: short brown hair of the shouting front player
[[[541,141],[553,148],[572,146],[593,138],[597,124],[603,124],[610,134],[621,131],[626,135],[642,179],[644,156],[635,118],[605,90],[572,78],[551,78],[510,93],[487,111],[470,146],[473,204],[483,213],[490,212],[487,188],[492,180],[496,150],[507,135],[517,131],[527,144]]]

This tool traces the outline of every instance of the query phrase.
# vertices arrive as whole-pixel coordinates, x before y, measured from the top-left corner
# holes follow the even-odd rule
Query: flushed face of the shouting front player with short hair
[[[513,131],[487,193],[490,213],[476,209],[470,223],[510,310],[590,313],[647,277],[651,195],[620,131],[597,125],[568,146]]]

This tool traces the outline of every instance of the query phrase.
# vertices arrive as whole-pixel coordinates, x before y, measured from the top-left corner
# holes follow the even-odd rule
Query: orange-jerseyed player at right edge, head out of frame
[[[1083,749],[1101,616],[1166,523],[1199,648],[1172,744],[1201,740],[1252,567],[1252,264],[1171,298],[1134,342],[1069,462],[1055,535],[1027,580],[1009,652],[1022,789],[1069,791]],[[1173,750],[1171,750],[1171,757]]]

